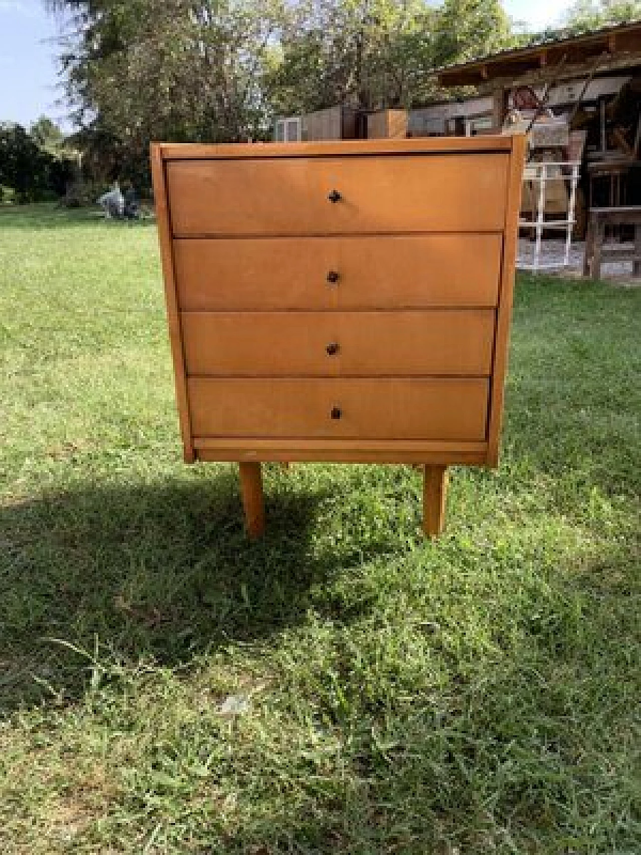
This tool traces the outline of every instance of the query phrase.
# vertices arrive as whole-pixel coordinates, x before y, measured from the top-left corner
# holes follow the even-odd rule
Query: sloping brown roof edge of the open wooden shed
[[[436,74],[444,86],[482,85],[497,78],[558,66],[559,62],[575,66],[603,54],[625,58],[626,54],[638,55],[640,51],[641,21],[632,21],[591,32],[548,32],[525,47],[438,68]]]

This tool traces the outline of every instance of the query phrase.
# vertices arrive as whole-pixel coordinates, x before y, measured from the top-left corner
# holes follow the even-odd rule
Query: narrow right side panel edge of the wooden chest
[[[498,446],[503,424],[503,397],[505,374],[508,368],[509,325],[512,318],[512,301],[515,284],[516,250],[518,244],[520,196],[523,186],[526,138],[512,137],[512,152],[509,157],[509,180],[505,206],[505,238],[503,239],[503,263],[497,310],[497,332],[494,339],[492,365],[490,415],[488,422],[488,444],[486,463],[498,465]]]

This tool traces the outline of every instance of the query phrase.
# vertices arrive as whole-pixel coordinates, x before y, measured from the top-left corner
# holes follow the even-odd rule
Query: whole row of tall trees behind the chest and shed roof
[[[70,16],[61,68],[85,168],[138,185],[151,139],[265,139],[274,115],[410,107],[434,95],[434,68],[532,39],[499,0],[45,3]],[[577,0],[565,23],[639,15],[639,0]]]

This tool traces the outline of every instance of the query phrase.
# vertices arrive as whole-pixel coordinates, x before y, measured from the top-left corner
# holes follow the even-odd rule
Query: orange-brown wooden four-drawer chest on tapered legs
[[[153,144],[185,460],[496,466],[522,137]]]

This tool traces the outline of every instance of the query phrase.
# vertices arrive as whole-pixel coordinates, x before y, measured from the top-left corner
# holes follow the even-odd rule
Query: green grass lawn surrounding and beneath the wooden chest
[[[641,852],[641,290],[521,278],[501,467],[181,462],[151,224],[0,209],[0,852]],[[228,696],[242,699],[226,714]]]

